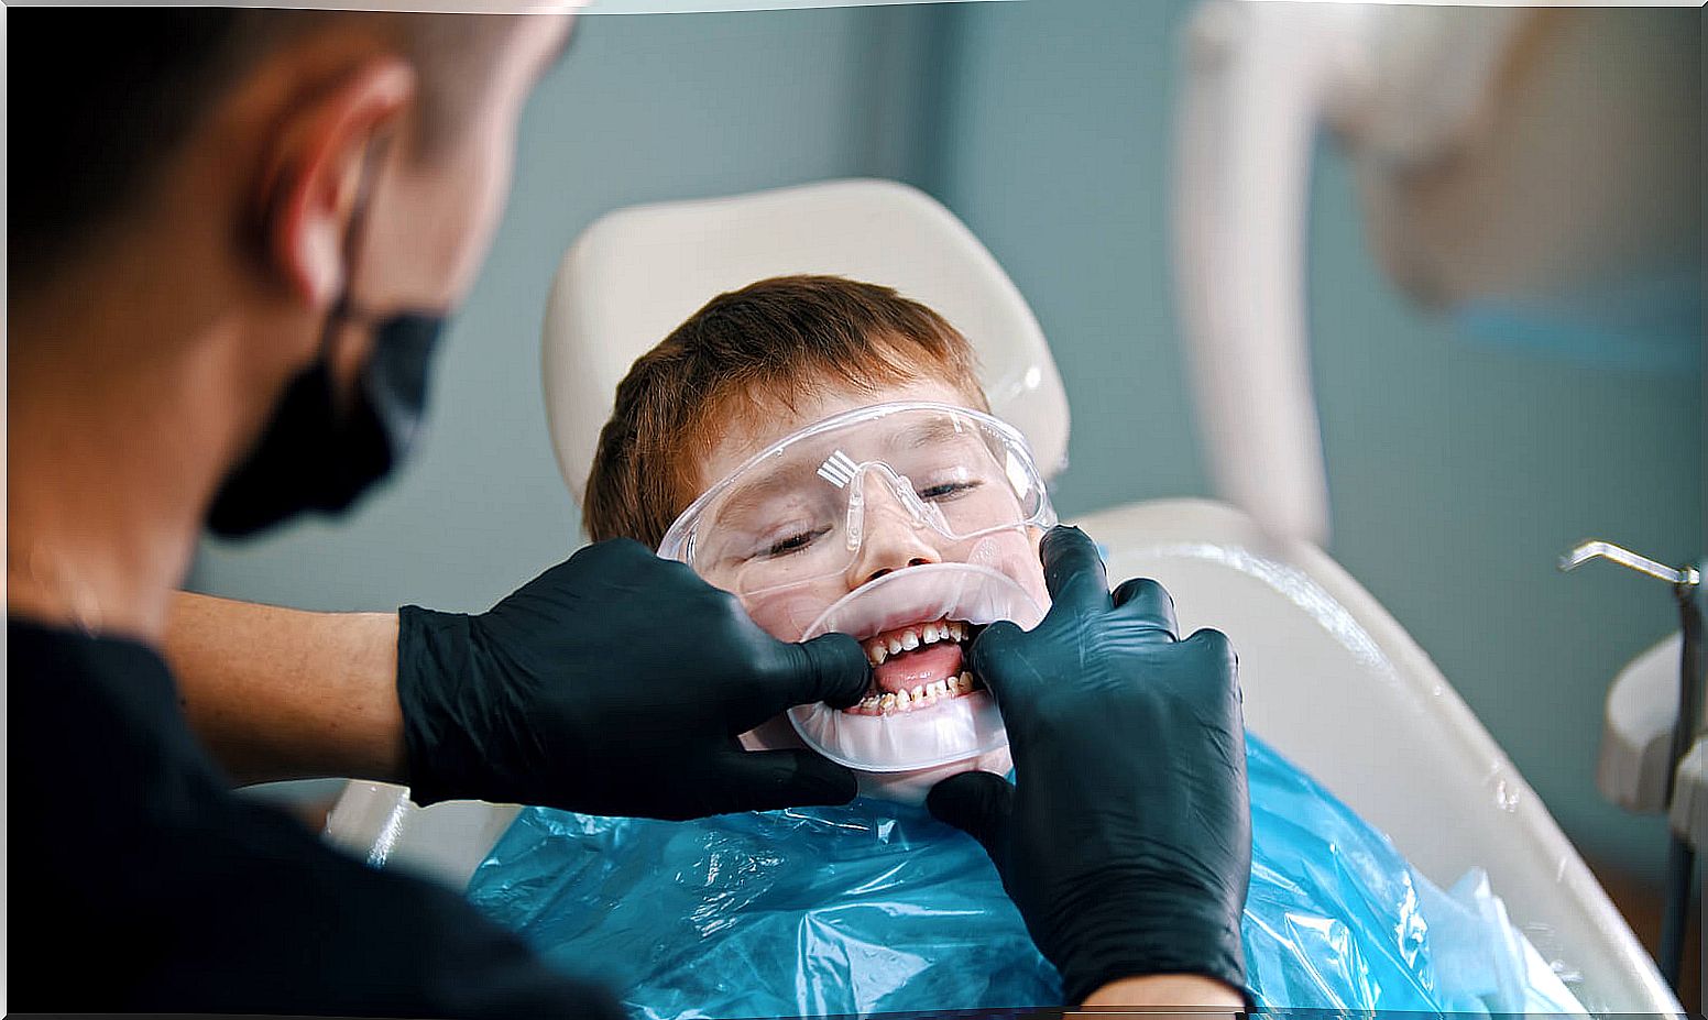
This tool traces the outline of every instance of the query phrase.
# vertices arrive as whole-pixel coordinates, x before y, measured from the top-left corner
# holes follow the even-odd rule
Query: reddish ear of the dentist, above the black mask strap
[[[335,87],[319,87],[319,99],[292,106],[278,126],[265,154],[256,203],[272,270],[292,297],[316,311],[336,299],[352,268],[343,265],[347,232],[372,138],[395,130],[415,99],[417,82],[401,58],[377,56]]]

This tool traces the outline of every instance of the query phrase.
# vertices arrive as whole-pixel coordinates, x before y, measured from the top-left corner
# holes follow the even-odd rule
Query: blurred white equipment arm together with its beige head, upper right
[[[1218,495],[1274,536],[1329,535],[1305,316],[1319,128],[1353,167],[1377,261],[1421,308],[1566,311],[1624,301],[1595,287],[1699,275],[1701,62],[1682,14],[1199,5],[1173,249]]]

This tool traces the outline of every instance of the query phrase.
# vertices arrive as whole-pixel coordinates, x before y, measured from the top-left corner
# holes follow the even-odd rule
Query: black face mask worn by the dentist
[[[369,161],[369,166],[372,161]],[[367,214],[367,169],[350,214],[345,265]],[[215,535],[254,535],[302,511],[342,513],[408,453],[427,405],[427,366],[442,314],[403,313],[374,323],[374,352],[354,393],[340,400],[331,374],[340,326],[362,321],[345,294],[333,304],[321,357],[285,388],[256,448],[239,463],[208,509]]]

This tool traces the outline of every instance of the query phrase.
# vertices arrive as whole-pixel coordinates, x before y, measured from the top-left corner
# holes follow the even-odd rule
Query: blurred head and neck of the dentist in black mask
[[[203,519],[348,506],[408,444],[569,17],[10,21],[14,518],[121,490],[181,569]]]

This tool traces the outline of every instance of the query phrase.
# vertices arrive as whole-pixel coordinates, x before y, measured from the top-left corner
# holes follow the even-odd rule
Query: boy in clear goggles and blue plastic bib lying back
[[[1054,514],[1023,439],[987,410],[970,345],[931,309],[835,277],[762,280],[712,299],[634,364],[600,437],[584,523],[593,540],[635,538],[688,562],[779,639],[801,639],[830,610],[874,666],[868,699],[832,730],[948,718],[987,699],[962,659],[977,622],[907,591],[907,572],[972,564],[1035,612],[1047,605],[1037,543]],[[861,608],[880,586],[893,600]],[[820,750],[842,747],[822,736]],[[799,736],[777,719],[748,742]],[[1512,976],[1529,989],[1525,967],[1546,964],[1477,921],[1469,885],[1436,890],[1262,742],[1247,743],[1243,936],[1261,1005],[1570,1003],[1551,974],[1535,982],[1556,999],[1512,999]],[[914,806],[950,772],[1008,771],[1006,748],[977,750],[863,774],[863,791],[890,800],[844,808],[687,824],[528,808],[468,892],[548,958],[627,986],[644,1017],[1057,1005],[1056,974],[984,851]],[[1508,999],[1496,1001],[1500,988]]]

